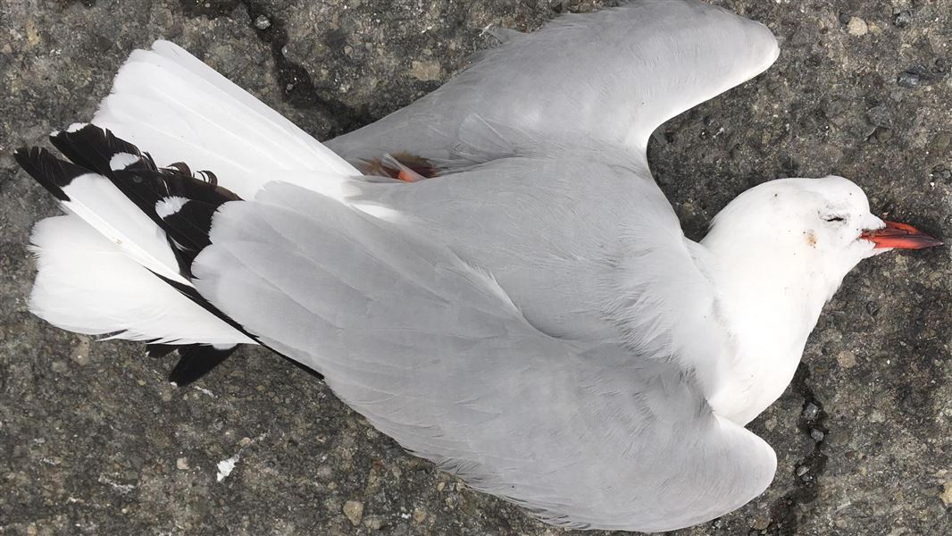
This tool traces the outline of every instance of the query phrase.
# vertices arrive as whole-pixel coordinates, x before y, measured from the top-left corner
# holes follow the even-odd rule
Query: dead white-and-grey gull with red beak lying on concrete
[[[30,310],[177,350],[180,383],[267,347],[550,524],[743,506],[777,464],[744,425],[843,277],[940,242],[836,176],[765,182],[684,236],[648,139],[774,62],[758,23],[643,1],[495,34],[326,145],[169,42],[135,50],[91,123],[51,134],[69,161],[16,152],[67,211],[31,236]]]

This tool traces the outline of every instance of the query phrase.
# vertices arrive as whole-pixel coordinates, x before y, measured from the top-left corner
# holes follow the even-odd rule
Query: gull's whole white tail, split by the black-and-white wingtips
[[[283,180],[341,199],[346,177],[359,171],[166,41],[130,55],[93,124],[131,145],[74,125],[54,132],[52,141],[76,166],[39,149],[17,154],[70,212],[33,230],[39,273],[30,310],[80,333],[156,344],[255,344],[208,304],[180,291],[191,284],[155,220],[174,210],[164,204],[169,213],[155,214],[119,188],[118,173],[149,163],[133,146],[148,150],[160,167],[188,162],[192,169],[210,169],[220,186],[244,198],[284,170]]]

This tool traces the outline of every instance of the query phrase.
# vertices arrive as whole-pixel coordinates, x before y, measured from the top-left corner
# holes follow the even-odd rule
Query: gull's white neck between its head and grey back
[[[830,282],[818,277],[809,254],[790,254],[796,249],[781,243],[754,248],[731,234],[708,234],[695,249],[695,259],[715,290],[731,342],[721,359],[733,372],[709,402],[725,417],[745,424],[793,379],[832,291]]]

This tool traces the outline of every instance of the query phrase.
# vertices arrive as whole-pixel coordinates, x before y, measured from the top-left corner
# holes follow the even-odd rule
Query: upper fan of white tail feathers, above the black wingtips
[[[159,165],[210,169],[252,198],[274,169],[360,172],[187,51],[165,41],[135,50],[92,122],[148,150]],[[305,188],[319,189],[315,173]]]

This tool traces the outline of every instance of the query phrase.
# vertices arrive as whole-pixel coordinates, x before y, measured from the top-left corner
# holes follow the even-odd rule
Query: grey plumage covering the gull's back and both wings
[[[687,2],[514,36],[328,143],[449,172],[354,183],[347,202],[395,210],[384,222],[268,186],[222,210],[199,288],[404,447],[549,522],[664,530],[721,515],[776,461],[696,382],[713,372],[689,350],[709,341],[684,340],[684,312],[711,303],[654,299],[702,276],[644,149],[661,122],[776,54],[762,26]],[[631,263],[639,292],[620,295]],[[621,308],[641,313],[623,322]]]

